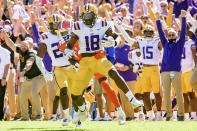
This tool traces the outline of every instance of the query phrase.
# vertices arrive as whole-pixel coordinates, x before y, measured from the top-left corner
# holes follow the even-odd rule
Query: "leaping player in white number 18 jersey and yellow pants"
[[[106,57],[96,57],[97,51],[103,50],[100,42],[104,38],[104,35],[111,36],[114,39],[111,41],[111,44],[118,44],[120,42],[118,35],[112,30],[112,23],[103,19],[97,19],[97,8],[92,4],[86,4],[81,9],[81,18],[83,21],[74,23],[71,39],[65,49],[66,56],[68,58],[72,57],[72,48],[76,41],[79,41],[82,59],[79,63],[78,73],[75,76],[71,88],[71,97],[73,102],[75,102],[79,108],[75,121],[84,121],[87,118],[87,106],[82,97],[82,92],[88,85],[94,73],[100,73],[111,77],[116,82],[117,86],[129,98],[133,107],[143,106],[143,103],[133,96],[125,81],[120,77],[114,66],[106,59]]]

